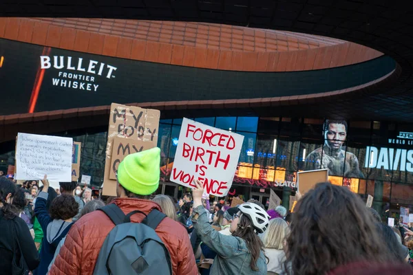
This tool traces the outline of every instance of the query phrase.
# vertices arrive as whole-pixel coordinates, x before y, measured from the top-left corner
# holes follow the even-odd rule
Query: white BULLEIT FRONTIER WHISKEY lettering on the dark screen
[[[96,75],[109,79],[115,78],[114,72],[117,69],[112,65],[98,61],[83,62],[83,58],[73,58],[72,60],[72,56],[53,56],[53,60],[50,56],[40,56],[40,67],[41,69],[54,67],[63,70],[63,72],[59,72],[58,77],[52,78],[53,86],[86,91],[98,90],[99,85],[95,82]]]

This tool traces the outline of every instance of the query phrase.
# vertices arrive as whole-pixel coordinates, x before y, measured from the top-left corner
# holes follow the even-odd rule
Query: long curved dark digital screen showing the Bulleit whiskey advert
[[[395,65],[392,58],[381,56],[328,70],[234,72],[113,58],[0,39],[0,115],[112,102],[314,94],[368,83],[392,72]]]

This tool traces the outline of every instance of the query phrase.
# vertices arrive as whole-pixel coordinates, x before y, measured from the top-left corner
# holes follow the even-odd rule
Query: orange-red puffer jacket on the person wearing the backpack
[[[125,214],[133,210],[140,210],[145,214],[149,214],[154,208],[160,210],[157,203],[145,199],[118,198],[112,203],[116,203]],[[140,222],[144,217],[137,213],[131,217],[131,221]],[[49,274],[92,275],[100,248],[114,227],[114,223],[101,211],[81,217],[67,234],[65,244]],[[156,228],[156,233],[171,254],[173,274],[198,275],[187,230],[180,223],[165,218]]]

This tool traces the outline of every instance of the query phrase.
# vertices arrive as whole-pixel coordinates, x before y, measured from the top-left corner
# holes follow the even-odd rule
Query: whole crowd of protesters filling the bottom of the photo
[[[159,148],[127,155],[106,203],[74,181],[56,192],[47,175],[21,186],[0,177],[1,274],[413,274],[413,228],[383,223],[346,187],[297,192],[294,212],[254,199],[231,207],[204,199],[198,180],[180,199],[154,195],[159,170]],[[118,238],[138,224],[145,242]],[[105,258],[108,248],[123,253]]]

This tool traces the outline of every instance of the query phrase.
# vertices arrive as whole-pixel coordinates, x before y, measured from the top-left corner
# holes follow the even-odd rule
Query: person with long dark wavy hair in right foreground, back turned
[[[389,251],[366,203],[346,187],[317,184],[295,206],[288,275],[413,274]]]

